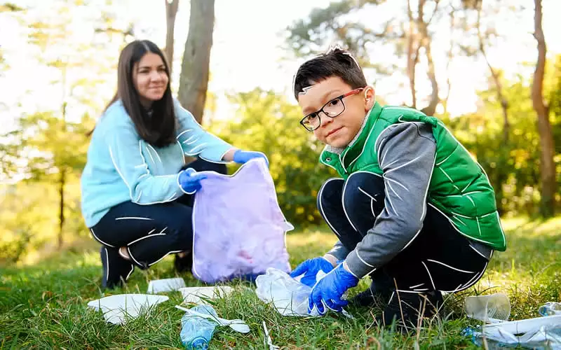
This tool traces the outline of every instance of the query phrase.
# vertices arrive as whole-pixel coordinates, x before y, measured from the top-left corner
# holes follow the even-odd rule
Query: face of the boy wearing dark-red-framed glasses
[[[353,88],[341,78],[332,76],[304,89],[305,92],[299,94],[298,103],[302,107],[304,116],[307,116],[310,113],[319,111],[327,102],[331,102],[332,99],[336,99],[352,90]],[[337,148],[349,146],[358,130],[360,130],[366,113],[374,105],[374,89],[367,86],[357,94],[351,94],[344,97],[341,101],[333,103],[341,102],[344,104],[343,113],[334,118],[326,116],[325,113],[319,113],[318,116],[321,123],[313,131],[318,140]]]

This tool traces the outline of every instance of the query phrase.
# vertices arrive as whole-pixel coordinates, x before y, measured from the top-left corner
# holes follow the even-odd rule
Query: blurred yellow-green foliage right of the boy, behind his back
[[[557,66],[561,57],[557,58]],[[504,140],[503,116],[496,90],[480,92],[482,106],[473,114],[447,119],[447,125],[485,169],[504,214],[539,214],[540,144],[536,113],[532,107],[529,78],[518,76],[503,82],[508,100],[508,142]],[[545,89],[550,96],[550,120],[556,144],[557,182],[561,181],[561,74],[548,66]],[[561,191],[557,189],[557,197]],[[559,199],[558,199],[559,200]]]

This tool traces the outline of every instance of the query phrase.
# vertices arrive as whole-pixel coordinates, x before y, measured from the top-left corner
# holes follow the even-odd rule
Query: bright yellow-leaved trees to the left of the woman
[[[86,13],[86,5],[98,8],[99,16]],[[7,208],[1,221],[0,259],[15,261],[25,258],[24,248],[25,253],[41,246],[50,248],[57,229],[59,246],[85,231],[79,177],[86,163],[86,132],[94,124],[90,113],[99,113],[99,101],[106,102],[112,94],[104,88],[104,74],[111,71],[113,75],[121,43],[112,42],[113,34],[104,30],[76,32],[76,22],[81,20],[94,29],[112,26],[111,1],[56,0],[49,6],[33,3],[10,15],[27,27],[27,43],[22,45],[34,54],[29,58],[46,76],[53,76],[49,81],[50,99],[55,102],[39,108],[29,102],[26,106],[18,102],[9,102],[8,106],[6,102],[6,109],[29,111],[18,112],[15,130],[0,134],[0,179],[12,184],[8,194],[0,197],[1,207]],[[1,59],[0,69],[8,69]],[[43,197],[37,199],[33,191],[43,193]]]

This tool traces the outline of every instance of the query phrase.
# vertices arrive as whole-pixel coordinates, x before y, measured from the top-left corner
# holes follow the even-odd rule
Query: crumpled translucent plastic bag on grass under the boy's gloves
[[[325,274],[323,274],[325,276]],[[318,280],[323,278],[318,275]],[[266,274],[257,276],[257,297],[267,304],[273,304],[276,311],[283,316],[320,316],[314,307],[308,312],[308,297],[311,287],[293,279],[279,269],[269,268]],[[353,318],[345,310],[344,316]]]

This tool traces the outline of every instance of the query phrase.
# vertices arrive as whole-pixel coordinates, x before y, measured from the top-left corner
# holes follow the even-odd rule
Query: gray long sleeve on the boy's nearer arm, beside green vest
[[[428,124],[391,125],[375,147],[386,198],[374,227],[346,258],[358,278],[391,260],[421,231],[435,162],[436,144]]]

